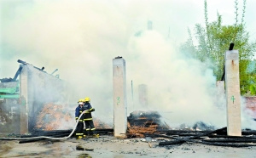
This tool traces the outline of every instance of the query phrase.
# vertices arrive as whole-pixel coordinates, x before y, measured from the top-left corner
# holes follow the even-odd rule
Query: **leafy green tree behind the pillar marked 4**
[[[250,89],[252,78],[247,72],[254,51],[256,42],[249,42],[249,33],[246,31],[244,14],[246,10],[246,0],[243,0],[241,22],[238,20],[238,2],[235,0],[235,24],[223,25],[222,16],[217,13],[217,20],[208,22],[207,0],[205,0],[205,26],[195,25],[195,37],[193,38],[189,30],[189,39],[181,46],[181,51],[192,54],[202,62],[210,59],[212,69],[217,80],[221,80],[224,70],[224,53],[229,48],[230,43],[235,43],[235,48],[239,51],[240,62],[240,86],[241,94],[247,93]],[[194,40],[195,39],[195,40]]]

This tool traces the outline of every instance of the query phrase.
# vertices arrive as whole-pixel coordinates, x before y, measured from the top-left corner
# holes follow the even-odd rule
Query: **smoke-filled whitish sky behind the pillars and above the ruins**
[[[242,1],[238,3],[240,20]],[[233,0],[207,5],[209,22],[218,12],[224,25],[235,23]],[[252,41],[255,6],[256,1],[247,0],[245,23]],[[153,23],[151,31],[148,20]],[[137,96],[138,85],[147,84],[147,110],[160,111],[170,123],[204,120],[221,127],[223,110],[212,116],[214,104],[223,105],[223,100],[212,99],[216,78],[211,62],[201,63],[177,51],[195,24],[204,25],[203,0],[0,0],[0,78],[15,76],[18,59],[44,66],[48,73],[57,68],[55,74],[78,92],[74,103],[90,96],[98,116],[112,120],[112,59],[122,56],[129,112],[145,109],[131,93]]]

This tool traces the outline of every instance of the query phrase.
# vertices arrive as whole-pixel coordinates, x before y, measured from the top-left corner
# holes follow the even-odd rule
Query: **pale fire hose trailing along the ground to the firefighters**
[[[55,140],[61,140],[61,139],[65,139],[65,138],[70,138],[74,131],[76,130],[76,127],[78,126],[79,124],[79,119],[81,118],[81,116],[83,116],[83,114],[88,111],[88,110],[84,110],[79,118],[78,118],[78,121],[76,122],[75,126],[73,127],[73,131],[67,136],[67,137],[63,137],[63,138],[52,138],[52,137],[47,137],[47,136],[38,136],[38,137],[32,137],[32,138],[0,138],[0,140],[28,140],[28,139],[35,139],[35,138],[49,138],[49,139],[55,139]]]

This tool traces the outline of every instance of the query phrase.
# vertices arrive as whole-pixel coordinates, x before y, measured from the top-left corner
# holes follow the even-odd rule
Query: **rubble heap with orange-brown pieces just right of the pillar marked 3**
[[[156,133],[162,126],[160,114],[157,111],[134,111],[127,117],[128,138],[143,138],[145,134]]]

